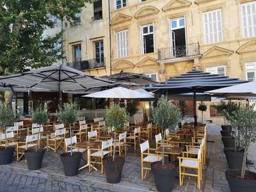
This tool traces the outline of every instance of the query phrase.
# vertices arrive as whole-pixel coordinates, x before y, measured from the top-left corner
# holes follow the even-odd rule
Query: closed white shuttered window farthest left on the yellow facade
[[[128,30],[116,33],[116,48],[118,58],[129,56]]]

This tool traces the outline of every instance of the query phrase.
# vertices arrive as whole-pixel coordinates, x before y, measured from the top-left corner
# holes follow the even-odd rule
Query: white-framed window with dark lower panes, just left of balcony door
[[[141,52],[147,54],[154,52],[154,24],[141,26]]]

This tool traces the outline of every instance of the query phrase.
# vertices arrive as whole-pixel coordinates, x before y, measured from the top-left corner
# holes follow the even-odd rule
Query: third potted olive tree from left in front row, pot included
[[[60,155],[61,163],[63,164],[66,176],[74,176],[78,174],[79,164],[81,162],[82,153],[73,152],[72,148],[72,129],[71,124],[77,121],[77,105],[73,103],[65,103],[63,108],[59,108],[58,120],[63,124],[69,125],[70,134],[70,152]]]

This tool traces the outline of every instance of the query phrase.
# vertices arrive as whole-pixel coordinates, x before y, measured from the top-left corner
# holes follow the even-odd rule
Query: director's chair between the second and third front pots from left
[[[64,147],[61,146],[61,144],[64,145],[64,140],[66,138],[66,129],[56,129],[55,132],[52,132],[51,135],[47,135],[47,151],[49,151],[50,149],[54,150],[54,152],[56,152],[56,150],[58,150],[59,147],[63,148],[63,150],[65,150]]]

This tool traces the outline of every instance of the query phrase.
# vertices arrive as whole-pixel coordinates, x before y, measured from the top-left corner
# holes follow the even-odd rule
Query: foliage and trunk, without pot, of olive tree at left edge
[[[4,102],[0,102],[0,128],[2,129],[2,131],[4,131],[5,138],[6,138],[6,127],[13,126],[14,121],[15,121],[15,115],[12,108],[10,108],[8,104]],[[8,142],[5,142],[5,148],[7,147],[8,147]]]

